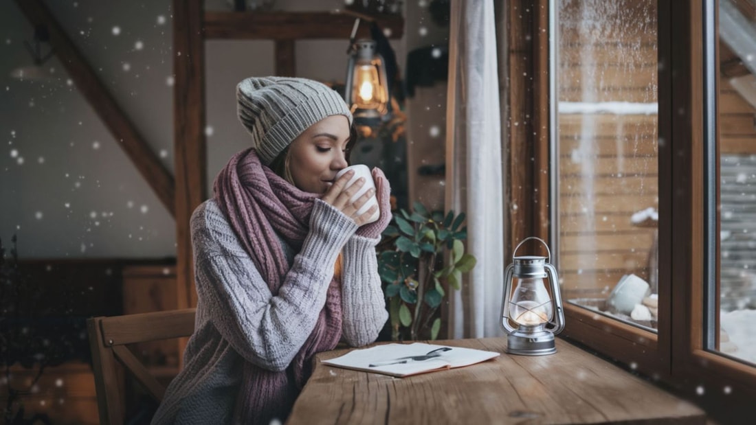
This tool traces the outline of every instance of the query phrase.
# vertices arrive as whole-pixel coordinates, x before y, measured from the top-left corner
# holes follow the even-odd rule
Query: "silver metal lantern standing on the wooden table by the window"
[[[519,247],[529,239],[536,239],[546,247],[549,257],[525,255],[516,257]],[[513,263],[504,273],[504,293],[501,301],[501,326],[507,331],[507,353],[543,356],[556,353],[554,335],[565,326],[559,276],[550,264],[551,251],[542,239],[531,236],[517,245]],[[544,284],[550,280],[550,292]],[[513,281],[517,280],[512,291]],[[554,314],[556,310],[556,315]],[[511,325],[510,320],[517,327]]]

